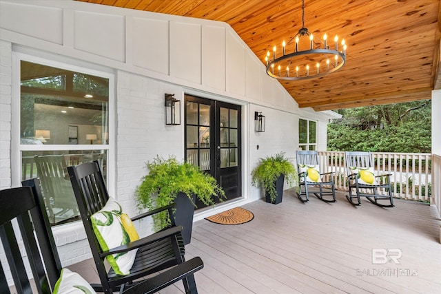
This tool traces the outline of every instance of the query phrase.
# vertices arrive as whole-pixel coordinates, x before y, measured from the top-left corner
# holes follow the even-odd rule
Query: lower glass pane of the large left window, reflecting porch
[[[94,160],[107,178],[107,150],[22,151],[22,180],[40,179],[51,225],[80,220],[67,167]]]

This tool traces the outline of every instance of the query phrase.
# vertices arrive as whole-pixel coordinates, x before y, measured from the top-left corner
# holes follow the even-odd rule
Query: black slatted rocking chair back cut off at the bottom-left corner
[[[23,186],[28,187],[0,191],[0,236],[15,287],[13,293],[32,293],[34,288],[37,293],[52,293],[51,289],[54,289],[61,273],[57,246],[39,185],[39,180],[35,178],[23,182]],[[13,229],[14,219],[18,226]],[[21,245],[17,240],[23,242],[25,258],[22,258]],[[34,283],[26,273],[25,263],[30,266]],[[0,293],[10,293],[1,265]]]

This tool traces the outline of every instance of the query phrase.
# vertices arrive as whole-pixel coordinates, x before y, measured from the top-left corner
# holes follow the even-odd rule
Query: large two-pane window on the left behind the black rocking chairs
[[[51,225],[80,220],[67,167],[107,178],[110,78],[20,61],[21,180],[39,177]]]

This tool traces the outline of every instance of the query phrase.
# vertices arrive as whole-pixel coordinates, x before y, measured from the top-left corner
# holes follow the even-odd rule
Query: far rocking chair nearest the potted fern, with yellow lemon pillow
[[[320,174],[318,167],[320,162],[318,160],[317,151],[296,151],[298,182],[300,185],[300,193],[297,194],[302,202],[309,201],[309,193],[313,193],[318,199],[325,202],[336,202],[336,192],[334,190],[334,179],[332,172]],[[314,169],[314,170],[312,170]],[[314,177],[309,173],[315,173]],[[325,181],[325,179],[328,179]],[[322,186],[331,186],[331,191],[323,191]],[[302,186],[305,187],[305,192],[302,191]],[[319,191],[310,191],[309,187],[319,187]],[[303,198],[302,196],[305,196]],[[323,196],[332,196],[332,200],[323,198]]]

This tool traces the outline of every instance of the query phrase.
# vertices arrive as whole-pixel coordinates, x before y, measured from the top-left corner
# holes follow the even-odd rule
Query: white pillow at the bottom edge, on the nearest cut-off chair
[[[62,269],[54,287],[54,294],[95,294],[96,292],[78,273]]]

